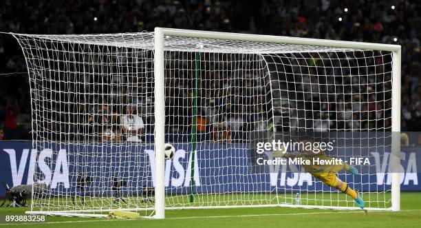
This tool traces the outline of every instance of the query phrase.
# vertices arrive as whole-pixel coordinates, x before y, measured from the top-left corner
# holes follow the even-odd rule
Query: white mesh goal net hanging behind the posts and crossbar
[[[333,142],[328,156],[369,158],[354,165],[360,174],[338,177],[366,207],[392,208],[393,48],[197,34],[13,34],[38,152],[30,213],[355,209],[300,165],[262,164],[279,158],[263,143],[303,135]],[[175,147],[169,160],[164,143]]]

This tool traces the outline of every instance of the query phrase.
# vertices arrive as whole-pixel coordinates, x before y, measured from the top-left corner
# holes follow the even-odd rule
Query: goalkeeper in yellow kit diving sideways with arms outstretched
[[[314,145],[313,143],[313,139],[309,136],[301,138],[300,141],[300,145]],[[347,163],[342,163],[341,165],[337,165],[336,163],[332,163],[332,165],[314,164],[313,158],[319,158],[319,160],[334,160],[336,158],[326,156],[325,152],[322,149],[319,149],[319,153],[315,153],[313,151],[313,147],[311,147],[311,149],[308,149],[307,147],[300,147],[299,150],[299,154],[283,154],[283,152],[274,152],[274,154],[279,154],[280,156],[283,156],[285,158],[296,157],[302,158],[303,160],[310,160],[310,165],[303,165],[305,172],[308,172],[315,178],[321,180],[321,182],[325,183],[325,185],[328,185],[330,187],[336,187],[336,189],[338,189],[339,191],[342,191],[348,196],[351,196],[352,198],[354,198],[356,205],[358,205],[358,207],[360,207],[361,209],[364,209],[364,201],[362,198],[360,198],[358,192],[349,187],[349,185],[346,182],[342,181],[338,178],[338,176],[336,176],[336,174],[338,172],[341,172],[343,169],[345,169],[347,172],[350,172],[351,174],[357,175],[358,169],[356,169],[356,167],[348,165]]]

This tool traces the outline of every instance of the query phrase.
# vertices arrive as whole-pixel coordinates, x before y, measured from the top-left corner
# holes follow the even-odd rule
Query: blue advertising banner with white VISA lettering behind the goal
[[[175,144],[175,156],[166,160],[166,191],[168,194],[188,192],[191,185],[191,144]],[[421,164],[421,147],[401,147],[401,189],[421,191],[421,177],[417,164]],[[351,151],[343,149],[343,154]],[[341,154],[339,153],[339,154]],[[248,145],[218,145],[199,143],[194,167],[195,191],[200,192],[274,192],[323,191],[319,181],[294,165],[259,165],[257,158],[270,158],[255,154]],[[360,191],[390,189],[388,172],[389,153],[369,152],[369,163],[361,168],[361,175],[338,174],[339,178],[355,184]],[[0,181],[9,185],[46,183],[52,194],[74,191],[76,176],[92,176],[91,192],[100,189],[111,195],[111,179],[127,180],[126,193],[139,191],[139,187],[154,183],[154,156],[151,145],[107,145],[101,143],[58,144],[43,143],[37,148],[31,142],[0,142]],[[341,156],[341,155],[339,155]],[[358,160],[358,159],[356,159]],[[358,163],[358,161],[355,161]],[[363,162],[356,167],[364,167]],[[34,176],[34,174],[36,174]],[[5,190],[0,187],[0,195]]]

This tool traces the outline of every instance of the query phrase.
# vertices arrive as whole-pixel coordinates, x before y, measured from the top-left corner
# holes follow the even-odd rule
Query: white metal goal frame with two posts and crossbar
[[[181,30],[173,28],[155,28],[155,57],[154,57],[154,75],[155,75],[155,216],[154,218],[165,218],[165,160],[164,153],[164,125],[165,125],[165,94],[164,94],[164,37],[189,37],[202,39],[220,39],[231,41],[253,41],[265,43],[283,43],[294,45],[314,45],[331,48],[352,48],[360,50],[380,50],[389,51],[393,54],[392,69],[392,107],[391,107],[391,131],[400,132],[400,45],[380,44],[380,43],[363,43],[352,41],[333,41],[324,39],[307,39],[297,37],[278,37],[257,34],[239,34],[229,32],[206,32],[199,30]],[[391,147],[391,207],[386,210],[400,210],[400,173],[398,172],[398,163],[400,162],[400,138],[399,134],[392,134]],[[258,207],[312,207],[312,208],[329,208],[329,209],[356,209],[354,207],[318,207],[318,206],[301,206],[301,205],[259,205]],[[225,206],[241,207],[241,206]],[[253,207],[253,206],[242,206]],[[193,208],[222,208],[222,207],[192,207]],[[171,208],[179,209],[179,208]],[[378,209],[378,208],[373,208]],[[382,209],[385,210],[385,209]]]

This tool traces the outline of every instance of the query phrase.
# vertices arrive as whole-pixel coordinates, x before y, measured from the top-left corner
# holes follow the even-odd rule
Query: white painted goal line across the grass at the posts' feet
[[[407,211],[421,211],[421,209],[409,209],[400,211],[369,211],[369,213],[396,213],[396,212],[407,212]],[[244,214],[234,216],[190,216],[190,217],[175,217],[166,218],[166,220],[180,220],[180,219],[195,219],[195,218],[241,218],[241,217],[264,217],[264,216],[305,216],[305,215],[317,215],[317,214],[350,214],[350,213],[364,213],[363,211],[326,211],[326,212],[305,212],[305,213],[289,213],[289,214]],[[71,221],[56,221],[56,222],[25,222],[25,223],[1,223],[3,225],[36,225],[36,224],[57,224],[57,223],[74,223],[74,222],[112,222],[112,221],[130,221],[130,220],[142,220],[142,219],[101,219],[101,220],[71,220]]]

